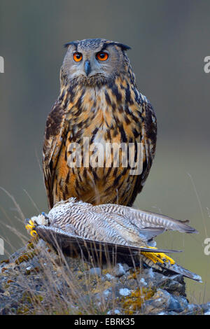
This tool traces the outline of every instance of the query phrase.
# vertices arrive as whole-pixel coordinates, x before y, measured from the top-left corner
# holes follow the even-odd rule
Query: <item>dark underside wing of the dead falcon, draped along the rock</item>
[[[141,253],[141,258],[151,267],[158,269],[159,271],[166,271],[169,274],[181,274],[195,281],[202,282],[201,276],[190,272],[188,269],[181,267],[178,264],[170,264],[169,262],[154,264],[144,253],[153,253],[154,249],[142,248],[134,246],[124,246],[122,244],[111,244],[106,241],[94,241],[91,239],[85,239],[84,237],[78,237],[71,233],[64,232],[59,228],[38,225],[36,226],[36,232],[39,237],[51,244],[57,251],[62,251],[65,255],[72,257],[73,255],[85,255],[87,258],[95,261],[101,261],[102,257],[109,262],[116,262],[119,255],[123,256],[123,260],[134,261],[135,257]],[[155,253],[164,252],[179,252],[166,249],[155,249]],[[143,254],[142,254],[143,253]],[[133,258],[132,258],[133,257]],[[139,260],[139,258],[137,258]]]

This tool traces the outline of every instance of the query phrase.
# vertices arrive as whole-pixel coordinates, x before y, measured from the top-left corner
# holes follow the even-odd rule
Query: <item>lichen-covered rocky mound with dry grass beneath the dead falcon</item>
[[[0,265],[0,314],[207,315],[210,302],[189,304],[181,275],[59,256],[39,239]]]

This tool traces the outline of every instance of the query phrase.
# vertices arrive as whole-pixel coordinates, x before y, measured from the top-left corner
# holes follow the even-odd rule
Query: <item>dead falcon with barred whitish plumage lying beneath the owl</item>
[[[58,244],[67,253],[73,248],[91,251],[92,246],[97,250],[106,246],[110,252],[115,250],[127,257],[130,253],[137,255],[140,252],[147,265],[201,280],[200,276],[177,265],[164,254],[170,250],[154,249],[153,238],[166,230],[196,233],[188,221],[118,204],[93,206],[70,198],[55,204],[48,215],[31,218],[27,225],[55,248]]]

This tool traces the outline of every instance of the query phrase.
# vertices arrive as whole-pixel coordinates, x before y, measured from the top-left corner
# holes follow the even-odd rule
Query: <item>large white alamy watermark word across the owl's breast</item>
[[[130,169],[130,175],[140,175],[143,169],[143,143],[91,143],[83,137],[83,143],[70,143],[67,148],[67,164],[70,168]]]

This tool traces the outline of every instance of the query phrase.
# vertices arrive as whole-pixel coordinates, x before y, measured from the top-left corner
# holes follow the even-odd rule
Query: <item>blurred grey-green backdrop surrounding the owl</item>
[[[200,231],[158,237],[158,246],[183,249],[174,258],[202,276],[202,284],[186,279],[195,303],[210,300],[210,255],[204,255],[210,237],[209,12],[206,0],[0,1],[1,188],[25,218],[48,211],[41,148],[59,94],[63,44],[100,37],[130,45],[137,85],[158,117],[155,161],[135,206],[189,219]],[[0,190],[0,236],[8,253],[22,241],[6,225],[26,235],[18,218],[13,200]]]

